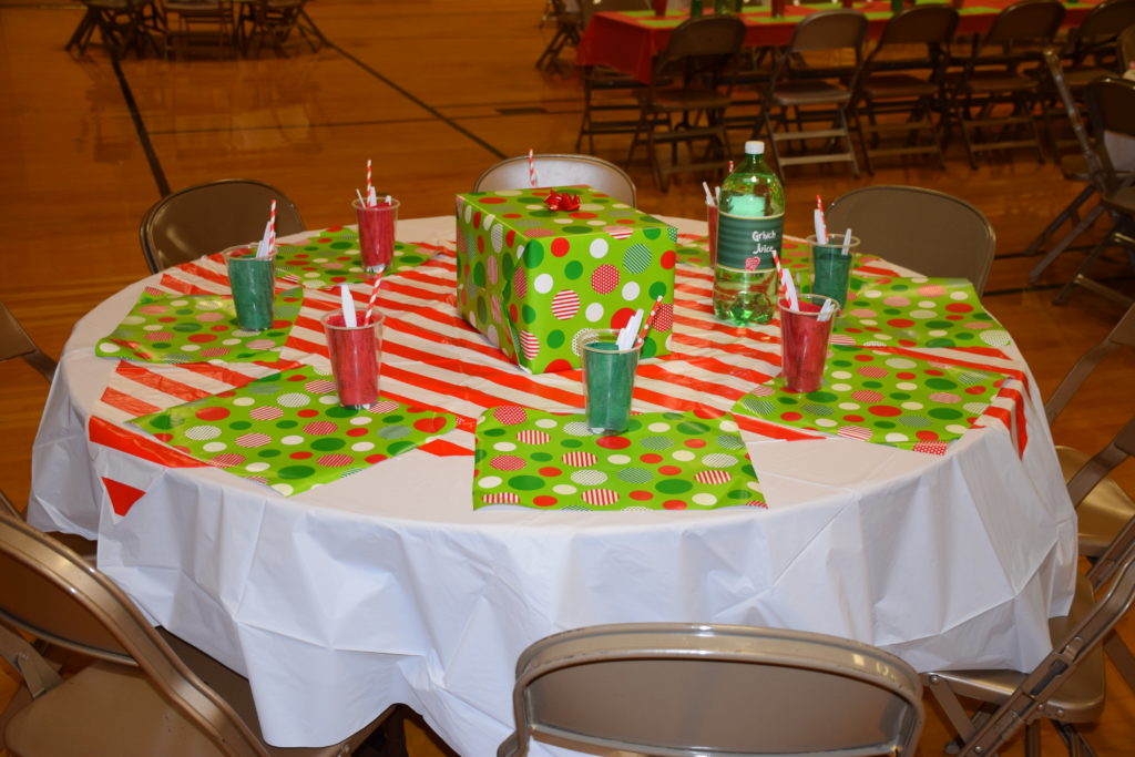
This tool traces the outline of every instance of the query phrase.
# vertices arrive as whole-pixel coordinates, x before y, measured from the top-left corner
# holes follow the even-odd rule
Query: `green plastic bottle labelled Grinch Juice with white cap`
[[[764,160],[765,143],[745,143],[745,160],[721,185],[714,314],[728,323],[767,323],[776,311],[776,267],[784,229],[784,185]]]

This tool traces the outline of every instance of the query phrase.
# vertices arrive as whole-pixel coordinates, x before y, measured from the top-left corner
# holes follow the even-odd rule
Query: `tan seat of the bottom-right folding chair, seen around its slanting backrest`
[[[1091,609],[1094,598],[1092,584],[1083,575],[1077,575],[1076,594],[1068,615],[1049,621],[1049,633],[1053,639],[1062,639],[1073,625]],[[935,671],[962,697],[1001,704],[1008,699],[1025,680],[1025,673],[1009,670],[993,671]],[[1048,699],[1049,716],[1065,723],[1088,723],[1103,712],[1103,649],[1096,647],[1081,663],[1076,672]],[[1061,709],[1059,717],[1056,710]]]

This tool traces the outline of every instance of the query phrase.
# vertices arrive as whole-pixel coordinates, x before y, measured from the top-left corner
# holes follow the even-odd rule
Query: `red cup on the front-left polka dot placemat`
[[[367,311],[355,311],[362,323]],[[362,326],[344,326],[340,311],[323,316],[323,333],[331,359],[331,373],[344,407],[369,407],[378,402],[378,376],[382,356],[382,313],[372,312]]]

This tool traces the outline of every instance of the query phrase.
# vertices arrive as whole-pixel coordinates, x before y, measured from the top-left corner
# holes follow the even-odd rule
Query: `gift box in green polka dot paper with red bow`
[[[553,191],[579,210],[548,210]],[[669,354],[678,230],[588,187],[457,195],[457,309],[532,373],[580,367],[580,343],[661,296],[642,359]]]

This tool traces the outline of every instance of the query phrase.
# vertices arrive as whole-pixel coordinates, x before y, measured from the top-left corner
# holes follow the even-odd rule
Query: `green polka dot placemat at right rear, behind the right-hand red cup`
[[[836,344],[953,347],[976,352],[1012,344],[966,279],[878,276],[852,279]]]

